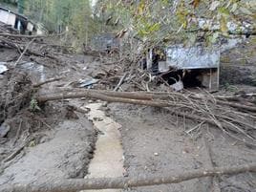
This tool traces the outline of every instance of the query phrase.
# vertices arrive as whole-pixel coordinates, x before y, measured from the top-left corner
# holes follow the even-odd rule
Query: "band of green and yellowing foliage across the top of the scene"
[[[69,29],[79,44],[96,33],[121,30],[144,42],[193,44],[203,36],[205,42],[214,43],[220,35],[228,37],[229,21],[237,33],[245,22],[252,32],[256,27],[256,3],[248,0],[97,0],[94,7],[92,0],[2,1],[12,5],[24,1],[26,15],[50,32]]]

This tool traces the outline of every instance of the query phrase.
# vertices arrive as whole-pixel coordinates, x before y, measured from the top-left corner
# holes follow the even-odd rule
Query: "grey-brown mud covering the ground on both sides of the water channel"
[[[19,66],[19,71],[27,73],[32,83],[50,77],[64,76],[60,81],[44,85],[39,90],[40,94],[57,92],[63,87],[72,88],[79,79],[90,79],[98,75],[98,69],[102,69],[100,60],[94,56],[66,53],[59,55],[59,61],[53,63],[42,58],[25,56],[24,61],[32,61],[35,64],[29,66],[31,67],[29,70],[28,66]],[[18,56],[19,54],[14,51],[0,50],[0,61],[15,60]],[[111,66],[103,67],[111,68]],[[6,80],[6,74],[1,75],[0,83],[6,84]],[[256,92],[256,88],[251,86],[251,83],[246,84],[249,86],[234,85],[236,88],[234,90],[230,87],[232,85],[230,81],[228,85],[223,84],[224,92],[239,91],[244,88]],[[99,88],[113,89],[114,86],[103,84],[97,87]],[[88,170],[96,154],[96,140],[100,135],[104,136],[104,133],[96,129],[94,120],[100,122],[104,119],[89,120],[87,114],[70,111],[67,106],[75,105],[86,109],[88,103],[94,104],[99,101],[89,99],[54,101],[42,106],[41,110],[36,112],[30,110],[31,100],[27,101],[20,111],[18,110],[11,117],[6,117],[1,125],[1,132],[5,131],[6,134],[1,135],[3,137],[0,138],[0,185],[90,176]],[[209,167],[211,160],[207,155],[204,140],[210,145],[214,166],[256,161],[255,147],[230,139],[222,131],[207,125],[197,129],[197,132],[186,134],[186,130],[195,127],[198,123],[172,116],[159,108],[103,103],[100,110],[106,117],[112,118],[120,125],[118,131],[123,153],[123,170],[121,170],[123,177],[175,173]],[[4,129],[3,125],[9,125],[10,130]],[[20,152],[8,160],[11,154],[23,145]],[[122,160],[118,161],[122,163]],[[105,173],[105,176],[108,176],[108,173]],[[224,176],[217,180],[223,192],[256,191],[255,174]],[[204,178],[179,184],[139,187],[128,191],[207,192],[211,191],[211,181],[209,178]]]

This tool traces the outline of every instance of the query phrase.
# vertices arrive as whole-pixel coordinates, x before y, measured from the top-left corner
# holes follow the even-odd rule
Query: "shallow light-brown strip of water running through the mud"
[[[91,109],[89,119],[92,119],[96,129],[102,132],[96,141],[94,159],[89,164],[89,174],[86,178],[117,178],[123,176],[123,149],[121,146],[121,127],[115,120],[106,117],[99,108],[101,103],[89,104]],[[84,192],[120,192],[119,189],[87,190]]]

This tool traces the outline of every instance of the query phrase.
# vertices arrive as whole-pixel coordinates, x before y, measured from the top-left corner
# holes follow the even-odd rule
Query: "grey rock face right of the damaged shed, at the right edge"
[[[256,86],[256,37],[250,37],[221,57],[221,84]]]

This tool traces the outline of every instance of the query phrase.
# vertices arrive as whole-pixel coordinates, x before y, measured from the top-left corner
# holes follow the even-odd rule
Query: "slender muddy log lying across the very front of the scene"
[[[2,192],[76,192],[80,190],[98,189],[125,189],[139,186],[152,186],[160,184],[179,183],[203,177],[234,175],[245,172],[256,172],[256,163],[219,167],[211,169],[191,170],[176,174],[158,176],[139,176],[136,178],[101,178],[101,179],[74,179],[62,181],[47,181],[28,185],[18,184],[2,186]]]

